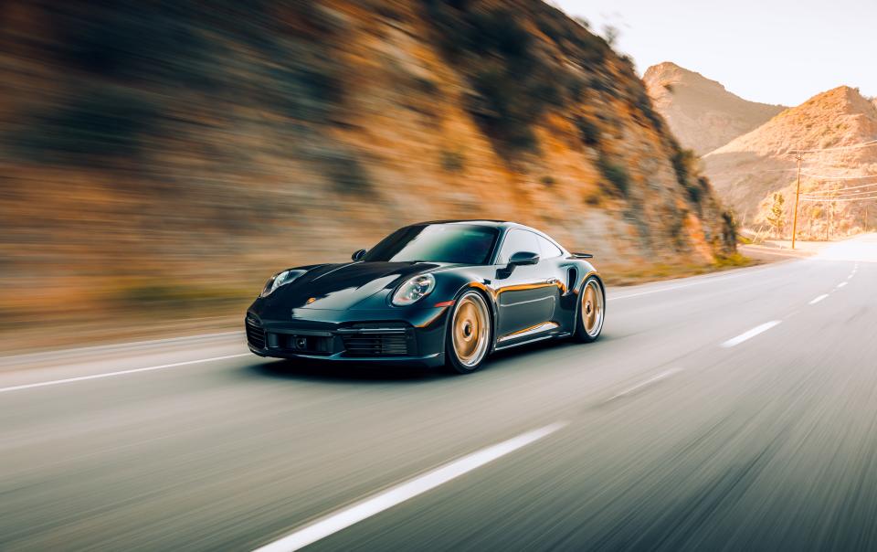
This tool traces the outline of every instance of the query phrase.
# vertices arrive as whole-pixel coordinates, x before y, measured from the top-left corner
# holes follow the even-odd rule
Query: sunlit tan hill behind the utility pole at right
[[[717,192],[747,224],[763,223],[769,196],[787,196],[787,218],[794,204],[796,163],[789,150],[824,149],[877,139],[877,109],[858,90],[847,86],[828,90],[798,107],[783,111],[751,133],[707,154],[706,172]],[[877,148],[831,150],[805,155],[803,192],[861,185],[867,179],[829,180],[808,175],[850,178],[877,175]],[[799,228],[805,237],[844,235],[872,228],[867,215],[872,202],[807,204],[800,211]],[[871,206],[873,207],[873,206]],[[873,213],[873,208],[871,209]],[[867,220],[865,217],[868,216]],[[828,228],[831,225],[831,228]]]

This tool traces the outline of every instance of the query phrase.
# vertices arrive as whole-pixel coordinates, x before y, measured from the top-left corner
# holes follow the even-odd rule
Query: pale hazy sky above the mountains
[[[640,74],[660,61],[746,100],[797,105],[841,84],[877,95],[877,0],[554,0],[603,34]]]

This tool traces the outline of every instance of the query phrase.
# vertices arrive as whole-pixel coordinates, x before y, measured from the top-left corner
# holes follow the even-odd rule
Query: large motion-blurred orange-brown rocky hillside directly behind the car
[[[629,60],[539,0],[0,10],[6,329],[238,313],[427,219],[609,274],[734,253]]]

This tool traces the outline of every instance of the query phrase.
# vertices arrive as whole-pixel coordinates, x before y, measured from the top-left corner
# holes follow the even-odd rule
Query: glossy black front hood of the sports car
[[[283,308],[351,309],[402,281],[447,264],[438,262],[350,262],[315,267],[269,295]]]

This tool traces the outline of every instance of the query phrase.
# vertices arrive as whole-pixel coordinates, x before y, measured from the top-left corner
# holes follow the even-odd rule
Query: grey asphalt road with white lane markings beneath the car
[[[2,550],[877,548],[877,236],[450,377],[240,334],[0,360]]]

